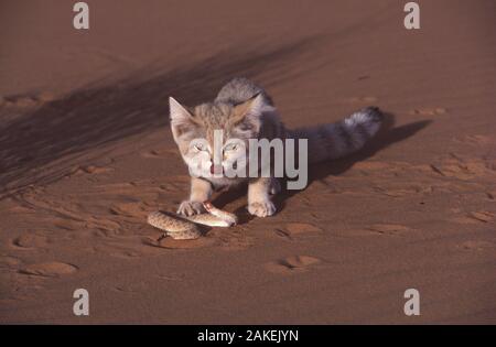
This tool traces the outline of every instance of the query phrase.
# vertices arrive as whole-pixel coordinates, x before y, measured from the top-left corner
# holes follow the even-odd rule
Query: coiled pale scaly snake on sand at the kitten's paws
[[[200,225],[226,228],[238,223],[236,215],[216,208],[211,202],[203,203],[203,206],[207,213],[193,216],[152,212],[148,215],[148,224],[175,240],[194,240],[202,236]]]

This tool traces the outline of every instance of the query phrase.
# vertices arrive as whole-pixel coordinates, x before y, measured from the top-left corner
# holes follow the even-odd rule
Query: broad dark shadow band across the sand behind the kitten
[[[262,79],[270,87],[317,69],[328,61],[315,58],[320,40],[240,45],[203,62],[174,68],[150,66],[127,78],[94,83],[0,123],[0,198],[31,184],[60,180],[67,174],[67,166],[77,162],[77,155],[95,148],[157,128],[170,135],[169,96],[195,105],[214,98],[235,76]],[[313,61],[302,67],[301,61],[310,59],[305,54],[312,54]],[[47,171],[45,166],[54,162],[57,170]]]

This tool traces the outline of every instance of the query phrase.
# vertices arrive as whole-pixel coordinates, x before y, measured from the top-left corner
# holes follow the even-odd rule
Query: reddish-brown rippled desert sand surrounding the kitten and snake
[[[0,6],[1,323],[496,323],[494,1],[420,1],[419,31],[396,0],[87,2],[89,32],[71,1]],[[290,128],[388,127],[276,216],[228,192],[238,226],[158,242],[188,187],[168,97],[234,76]]]

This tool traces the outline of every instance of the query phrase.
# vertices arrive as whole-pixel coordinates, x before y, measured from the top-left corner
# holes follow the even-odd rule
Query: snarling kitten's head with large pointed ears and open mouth
[[[204,177],[236,169],[235,162],[246,165],[248,140],[258,139],[263,112],[272,109],[262,95],[239,105],[208,102],[187,108],[172,97],[169,104],[181,155],[191,173]]]

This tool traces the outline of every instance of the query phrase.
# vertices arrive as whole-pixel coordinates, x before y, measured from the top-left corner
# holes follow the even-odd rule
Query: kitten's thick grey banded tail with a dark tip
[[[377,133],[382,118],[379,108],[367,107],[335,123],[291,130],[289,137],[309,140],[309,163],[313,164],[358,151]]]

